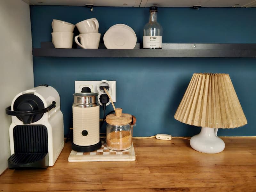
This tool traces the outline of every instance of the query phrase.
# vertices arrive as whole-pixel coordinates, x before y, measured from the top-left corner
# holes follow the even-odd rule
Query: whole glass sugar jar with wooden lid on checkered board
[[[116,114],[106,117],[107,121],[107,148],[123,151],[132,146],[132,129],[136,118],[130,114],[122,113],[122,108],[116,108]]]

